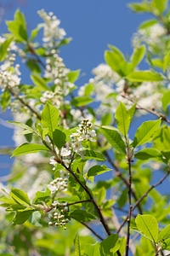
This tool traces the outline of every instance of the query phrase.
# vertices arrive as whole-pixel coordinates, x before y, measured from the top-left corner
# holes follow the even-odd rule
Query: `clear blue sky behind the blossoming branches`
[[[127,8],[128,3],[127,0],[0,0],[0,32],[7,32],[5,20],[13,20],[16,9],[26,15],[28,31],[42,22],[37,10],[53,11],[66,36],[72,38],[69,45],[62,47],[60,55],[66,67],[82,70],[77,82],[81,86],[92,76],[92,69],[105,62],[104,52],[108,44],[115,45],[125,55],[131,55],[133,32],[149,15],[134,14]],[[24,79],[26,83],[26,77]],[[4,122],[11,119],[9,112],[0,112],[0,147],[14,144],[13,130]],[[10,164],[9,156],[0,155],[1,177],[9,170]]]

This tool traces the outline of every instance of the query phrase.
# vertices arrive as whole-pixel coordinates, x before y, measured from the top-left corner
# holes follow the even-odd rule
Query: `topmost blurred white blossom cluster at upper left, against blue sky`
[[[59,27],[60,20],[54,15],[53,12],[48,14],[41,9],[37,11],[37,14],[44,20],[43,26],[43,38],[42,41],[45,43],[45,47],[53,48],[58,45],[58,40],[65,37],[65,30]]]

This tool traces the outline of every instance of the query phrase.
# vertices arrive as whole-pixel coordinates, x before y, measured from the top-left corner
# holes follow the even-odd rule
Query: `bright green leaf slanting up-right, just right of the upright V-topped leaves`
[[[145,121],[139,126],[135,133],[133,147],[138,147],[144,143],[150,143],[151,138],[154,136],[156,130],[161,125],[161,119],[154,121]]]

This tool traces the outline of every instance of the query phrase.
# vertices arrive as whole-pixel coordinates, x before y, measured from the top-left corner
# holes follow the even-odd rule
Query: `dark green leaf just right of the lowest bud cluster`
[[[95,219],[95,216],[84,210],[75,210],[70,212],[70,217],[80,222],[88,222]]]

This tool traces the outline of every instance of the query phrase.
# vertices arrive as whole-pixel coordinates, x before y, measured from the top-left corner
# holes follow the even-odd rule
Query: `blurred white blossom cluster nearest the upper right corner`
[[[161,46],[162,37],[167,34],[167,30],[165,27],[161,26],[161,24],[156,23],[153,26],[146,27],[144,29],[139,29],[138,32],[133,35],[133,47],[139,47],[140,44],[148,44],[150,51],[152,51],[152,47],[156,45],[156,47]]]

